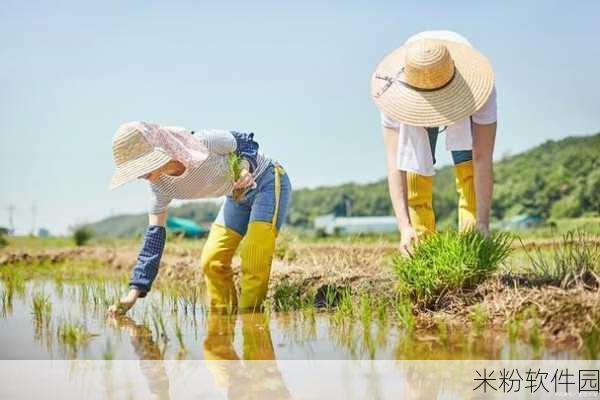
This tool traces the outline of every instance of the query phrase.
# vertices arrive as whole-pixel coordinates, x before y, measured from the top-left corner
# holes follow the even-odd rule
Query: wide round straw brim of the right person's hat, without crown
[[[371,77],[371,96],[386,116],[414,126],[451,125],[474,114],[488,99],[494,87],[494,71],[488,59],[468,45],[440,40],[454,60],[452,80],[437,90],[418,90],[376,76],[393,77],[405,65],[406,45],[377,65]]]

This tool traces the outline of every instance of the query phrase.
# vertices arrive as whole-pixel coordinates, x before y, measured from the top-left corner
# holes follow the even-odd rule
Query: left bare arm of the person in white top
[[[398,132],[394,128],[383,127],[383,143],[387,160],[388,188],[390,199],[394,207],[394,214],[398,221],[398,230],[402,235],[400,250],[409,253],[413,241],[417,235],[410,222],[408,213],[408,185],[406,182],[406,171],[398,170],[396,157],[398,149]]]

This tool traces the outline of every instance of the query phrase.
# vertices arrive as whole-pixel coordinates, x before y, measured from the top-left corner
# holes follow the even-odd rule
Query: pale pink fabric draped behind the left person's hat
[[[163,150],[187,168],[195,168],[208,158],[208,148],[184,128],[160,126],[143,121],[131,122],[131,125],[140,131],[152,146]]]

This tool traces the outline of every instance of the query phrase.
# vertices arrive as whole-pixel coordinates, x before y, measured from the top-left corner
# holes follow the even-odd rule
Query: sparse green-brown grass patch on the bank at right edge
[[[536,284],[570,288],[576,285],[597,287],[600,281],[600,242],[591,240],[582,231],[565,233],[557,246],[551,249],[527,251],[521,242],[529,267],[527,272]]]

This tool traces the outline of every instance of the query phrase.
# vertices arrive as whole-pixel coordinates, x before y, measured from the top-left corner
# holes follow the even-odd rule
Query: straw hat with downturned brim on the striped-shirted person
[[[171,160],[163,150],[152,146],[134,123],[123,124],[117,129],[112,148],[117,170],[110,181],[111,190],[140,178]]]

